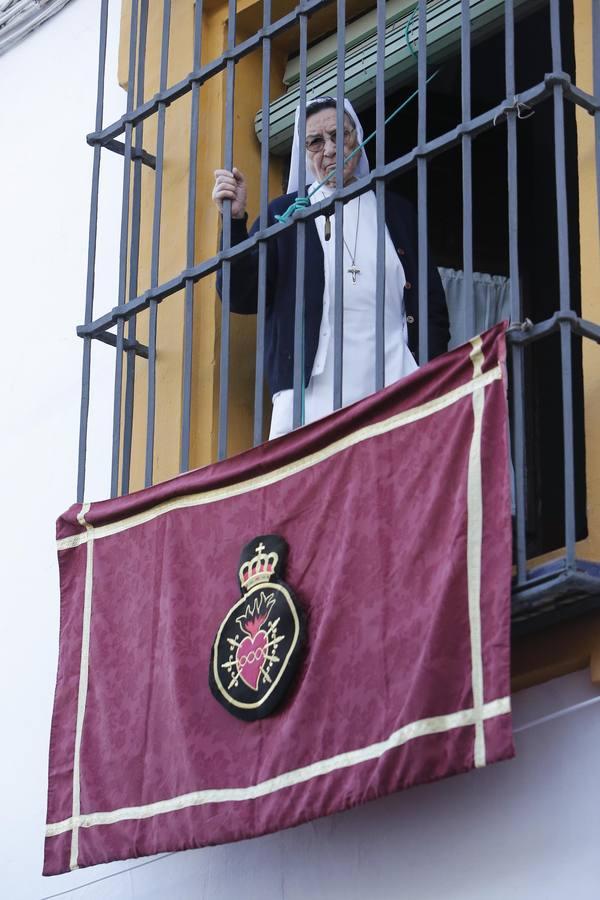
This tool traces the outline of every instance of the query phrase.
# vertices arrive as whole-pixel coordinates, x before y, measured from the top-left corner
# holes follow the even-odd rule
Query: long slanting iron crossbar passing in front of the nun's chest
[[[348,201],[353,197],[358,197],[360,194],[370,190],[376,181],[388,181],[401,173],[410,170],[416,165],[417,160],[420,157],[431,159],[451,147],[456,146],[461,142],[463,135],[470,134],[471,136],[475,136],[484,131],[488,131],[494,127],[499,116],[505,114],[510,109],[515,109],[517,103],[526,103],[532,108],[537,106],[551,96],[553,85],[556,83],[557,79],[564,85],[566,91],[573,90],[568,75],[563,76],[563,73],[551,73],[550,75],[547,75],[546,79],[543,82],[540,82],[540,84],[529,88],[527,91],[523,91],[521,94],[516,94],[514,100],[503,100],[502,103],[492,109],[481,113],[481,115],[476,116],[468,122],[457,125],[456,128],[428,141],[423,146],[414,147],[408,153],[405,153],[404,156],[387,163],[385,166],[372,169],[365,178],[358,179],[341,188],[335,198],[327,198],[319,203],[313,203],[309,207],[300,209],[289,222],[278,222],[276,225],[270,225],[268,228],[261,229],[255,232],[251,238],[248,238],[239,244],[235,244],[235,246],[226,250],[221,250],[216,256],[199,263],[197,266],[184,269],[170,281],[165,282],[162,285],[157,285],[151,290],[146,291],[144,294],[141,294],[139,297],[136,297],[134,300],[130,300],[121,306],[114,307],[111,312],[106,313],[88,325],[80,325],[77,329],[77,334],[80,337],[95,337],[98,333],[106,331],[107,328],[111,328],[115,325],[120,318],[129,319],[131,316],[137,315],[142,310],[147,309],[150,301],[157,301],[160,303],[171,294],[183,290],[185,288],[186,280],[191,279],[194,282],[199,281],[201,278],[216,271],[223,260],[231,260],[238,256],[243,256],[245,253],[249,253],[256,247],[260,241],[272,240],[280,231],[292,227],[295,222],[314,219],[319,215],[324,215],[327,211],[333,213],[334,199],[337,198]],[[577,104],[579,103],[574,97],[572,99]]]

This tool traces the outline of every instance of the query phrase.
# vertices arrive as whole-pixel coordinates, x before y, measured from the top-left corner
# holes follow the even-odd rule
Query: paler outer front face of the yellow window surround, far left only
[[[129,8],[123,4],[119,80],[127,84],[129,54]],[[160,44],[162,35],[161,2],[151,0],[148,10],[148,39],[144,98],[151,98],[159,90]],[[192,68],[193,8],[175,2],[171,10],[168,84],[185,77]],[[165,116],[163,190],[161,196],[161,229],[158,283],[168,281],[185,268],[185,238],[187,214],[187,179],[189,146],[189,95],[168,107]],[[144,122],[143,146],[155,154],[157,145],[157,117]],[[132,167],[133,186],[133,167]],[[133,190],[133,187],[132,187]],[[150,287],[152,223],[155,203],[155,173],[142,167],[142,196],[140,215],[140,254],[138,294]],[[148,341],[146,312],[138,316],[137,339]],[[179,434],[181,430],[181,375],[183,342],[183,292],[158,306],[157,365],[156,365],[156,425],[154,452],[154,480],[162,481],[179,470]],[[135,400],[131,490],[144,484],[147,364],[135,363]]]

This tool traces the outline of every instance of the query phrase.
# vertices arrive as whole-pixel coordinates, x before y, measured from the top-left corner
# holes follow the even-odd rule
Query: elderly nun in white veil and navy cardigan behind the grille
[[[347,157],[363,140],[361,124],[345,101],[344,185],[368,174],[364,149]],[[288,193],[269,204],[268,225],[276,222],[297,197],[298,122],[290,167]],[[306,110],[306,172],[312,184],[310,202],[329,197],[336,187],[336,102],[321,98]],[[329,176],[329,177],[328,177]],[[326,184],[320,182],[327,180]],[[222,211],[231,200],[231,242],[248,237],[246,181],[239,169],[215,172],[213,199]],[[332,216],[333,218],[333,216]],[[417,224],[412,206],[394,194],[385,207],[385,384],[417,368],[418,264]],[[257,220],[250,234],[259,228]],[[377,209],[375,194],[367,191],[344,206],[344,347],[342,400],[344,406],[375,390],[375,283],[377,267]],[[304,269],[304,420],[315,421],[333,410],[333,321],[335,300],[335,228],[324,216],[306,223]],[[231,264],[231,309],[250,314],[257,309],[258,252]],[[221,278],[217,278],[221,293]],[[429,355],[448,345],[448,312],[437,269],[428,276]],[[266,370],[273,397],[270,438],[292,429],[294,308],[296,297],[296,228],[281,231],[269,242],[266,297]]]

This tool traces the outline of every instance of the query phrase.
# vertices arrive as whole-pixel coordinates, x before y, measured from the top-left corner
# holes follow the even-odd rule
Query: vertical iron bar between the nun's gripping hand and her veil
[[[263,28],[271,24],[271,0],[263,0]],[[260,229],[268,225],[269,130],[271,99],[271,39],[262,39],[262,138],[260,147]],[[267,258],[269,245],[258,245],[258,297],[256,319],[256,376],[254,382],[254,446],[263,439],[263,397],[265,378],[265,316],[267,305]]]

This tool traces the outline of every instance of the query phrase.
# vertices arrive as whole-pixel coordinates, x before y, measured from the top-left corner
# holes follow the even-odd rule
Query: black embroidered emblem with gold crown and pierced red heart
[[[234,716],[262,719],[281,703],[305,642],[302,608],[280,578],[288,546],[276,534],[254,538],[238,569],[242,597],[229,610],[212,650],[209,685]]]

